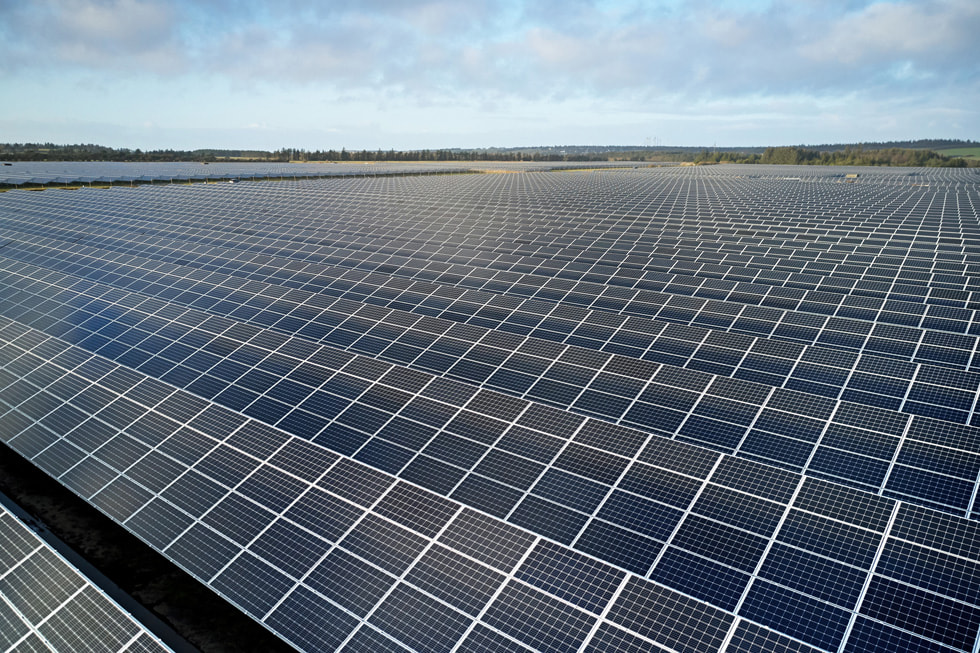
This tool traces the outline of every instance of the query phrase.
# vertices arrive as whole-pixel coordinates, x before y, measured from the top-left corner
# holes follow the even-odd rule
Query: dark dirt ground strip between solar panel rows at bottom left
[[[4,445],[0,491],[202,652],[293,650]]]

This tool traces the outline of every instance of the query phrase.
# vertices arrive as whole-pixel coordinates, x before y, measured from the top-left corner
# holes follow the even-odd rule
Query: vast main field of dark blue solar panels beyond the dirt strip
[[[980,176],[842,181],[5,193],[0,437],[301,650],[973,653]]]

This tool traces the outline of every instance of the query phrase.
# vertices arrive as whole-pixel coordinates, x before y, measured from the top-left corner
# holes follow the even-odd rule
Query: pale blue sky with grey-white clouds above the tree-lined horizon
[[[980,140],[980,0],[0,0],[0,142]]]

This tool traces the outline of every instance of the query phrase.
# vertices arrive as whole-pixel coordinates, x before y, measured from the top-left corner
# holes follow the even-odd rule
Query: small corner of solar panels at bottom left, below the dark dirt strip
[[[0,649],[170,651],[0,506]]]

